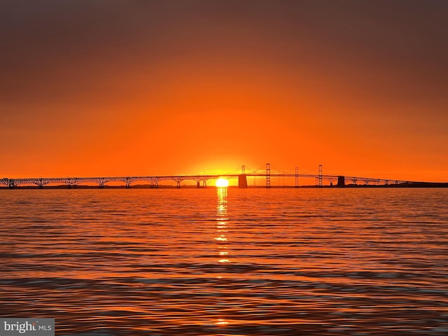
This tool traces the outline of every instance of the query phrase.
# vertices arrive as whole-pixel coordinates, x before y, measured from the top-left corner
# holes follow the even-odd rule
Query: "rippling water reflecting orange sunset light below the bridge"
[[[56,335],[448,335],[447,189],[0,190],[0,316]]]

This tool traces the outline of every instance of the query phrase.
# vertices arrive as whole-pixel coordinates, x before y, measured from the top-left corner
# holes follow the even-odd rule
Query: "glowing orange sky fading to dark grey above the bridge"
[[[446,1],[5,1],[2,177],[448,181]]]

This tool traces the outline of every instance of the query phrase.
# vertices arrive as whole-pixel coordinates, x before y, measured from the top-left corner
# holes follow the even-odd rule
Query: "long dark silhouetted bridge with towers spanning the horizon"
[[[97,184],[99,188],[104,188],[106,183],[115,182],[123,183],[126,188],[131,188],[132,183],[144,182],[151,188],[158,188],[161,181],[174,181],[176,188],[181,188],[182,181],[196,181],[197,188],[203,188],[207,186],[207,181],[216,179],[238,179],[239,188],[247,188],[247,177],[258,177],[265,179],[266,188],[271,187],[271,179],[278,177],[288,177],[295,179],[295,187],[299,186],[299,179],[311,178],[315,179],[316,186],[323,186],[323,181],[326,181],[330,186],[343,187],[346,186],[346,181],[351,182],[353,185],[362,183],[363,185],[388,185],[388,184],[400,184],[400,183],[418,183],[412,181],[403,181],[395,179],[375,179],[369,177],[358,176],[342,176],[342,175],[324,175],[322,174],[322,165],[318,167],[318,174],[299,174],[299,170],[295,167],[295,173],[278,173],[272,172],[271,165],[266,164],[265,169],[262,171],[253,171],[246,173],[246,167],[241,166],[240,174],[218,174],[218,175],[175,175],[175,176],[100,176],[100,177],[49,177],[49,178],[27,178],[27,179],[0,179],[0,186],[6,186],[6,188],[13,189],[17,186],[38,186],[43,188],[47,185],[66,186],[67,188],[74,188],[85,183]],[[202,185],[202,186],[201,186]]]

